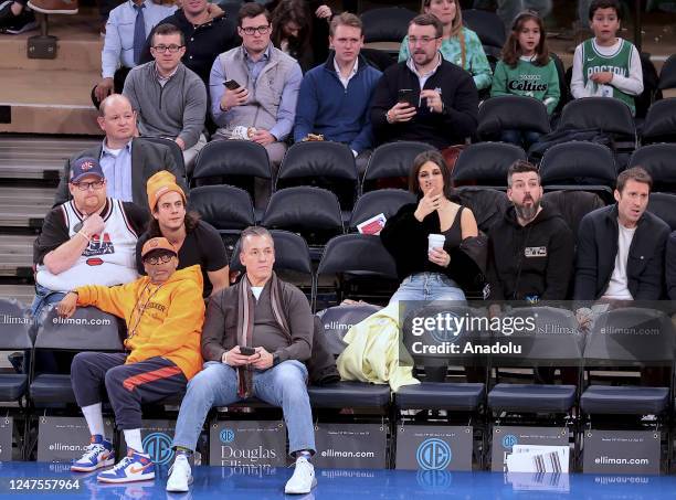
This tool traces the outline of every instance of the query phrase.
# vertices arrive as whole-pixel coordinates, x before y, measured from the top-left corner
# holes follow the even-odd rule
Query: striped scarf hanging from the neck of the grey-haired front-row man
[[[273,272],[270,279],[270,302],[277,325],[291,340],[291,330],[286,318],[282,315],[282,285],[277,275]],[[237,345],[253,347],[253,325],[255,298],[251,291],[249,277],[244,275],[240,281],[237,294]],[[250,365],[237,366],[237,396],[250,397],[253,390],[253,371]]]

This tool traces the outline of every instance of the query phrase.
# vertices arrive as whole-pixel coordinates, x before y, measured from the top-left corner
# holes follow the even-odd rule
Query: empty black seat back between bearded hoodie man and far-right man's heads
[[[540,179],[546,190],[583,190],[598,193],[613,203],[617,177],[612,151],[584,141],[552,146],[540,162]]]

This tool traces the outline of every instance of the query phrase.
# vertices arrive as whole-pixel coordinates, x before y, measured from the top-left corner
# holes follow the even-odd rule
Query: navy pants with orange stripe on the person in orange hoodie
[[[102,401],[105,389],[122,429],[141,426],[141,403],[157,403],[186,391],[181,369],[163,358],[125,364],[127,354],[80,352],[71,366],[71,383],[80,407]]]

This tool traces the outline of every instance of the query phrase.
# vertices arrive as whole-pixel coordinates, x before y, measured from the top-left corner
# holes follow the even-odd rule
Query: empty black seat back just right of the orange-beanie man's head
[[[243,189],[233,185],[192,188],[190,208],[219,231],[230,254],[242,230],[255,224],[251,196]]]

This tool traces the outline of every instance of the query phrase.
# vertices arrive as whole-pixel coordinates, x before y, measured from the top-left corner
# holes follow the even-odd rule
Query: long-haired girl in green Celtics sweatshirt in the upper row
[[[547,49],[545,25],[532,11],[518,14],[503,47],[503,60],[495,66],[490,97],[519,95],[534,97],[551,113],[559,104],[559,74]],[[503,130],[500,140],[528,150],[540,134],[535,130]]]

